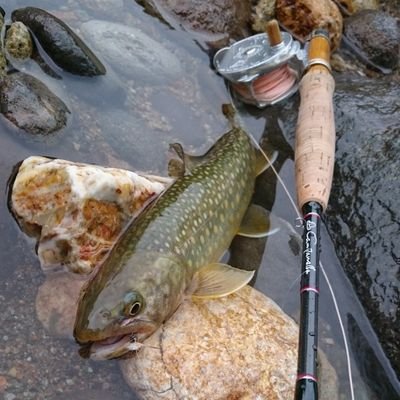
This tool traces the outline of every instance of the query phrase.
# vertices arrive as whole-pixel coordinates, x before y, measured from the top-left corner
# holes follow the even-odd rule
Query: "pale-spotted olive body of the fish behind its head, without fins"
[[[255,150],[240,128],[225,134],[200,165],[178,179],[133,223],[116,249],[120,268],[132,252],[182,256],[197,270],[217,261],[238,232],[254,190]]]

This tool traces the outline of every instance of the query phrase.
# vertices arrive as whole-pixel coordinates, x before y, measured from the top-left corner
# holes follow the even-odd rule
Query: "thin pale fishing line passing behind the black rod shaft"
[[[267,156],[267,154],[266,154],[266,153],[264,152],[264,150],[261,148],[261,146],[260,146],[259,143],[256,141],[256,139],[253,137],[253,135],[249,135],[249,136],[251,137],[251,140],[253,141],[253,143],[255,143],[257,149],[261,152],[261,154],[262,154],[262,155],[265,157],[265,159],[267,160],[267,162],[268,162],[270,168],[272,169],[272,171],[274,172],[274,174],[275,174],[275,176],[276,176],[278,182],[281,184],[281,186],[282,186],[284,192],[285,192],[286,195],[288,196],[288,199],[289,199],[290,203],[291,203],[292,206],[293,206],[293,209],[294,209],[294,211],[295,211],[295,213],[296,213],[296,215],[297,215],[297,218],[298,218],[299,220],[303,220],[303,218],[302,218],[302,216],[301,216],[301,214],[300,214],[300,212],[299,212],[299,210],[298,210],[298,208],[297,208],[297,205],[296,205],[296,203],[295,203],[295,201],[294,201],[292,195],[290,194],[290,192],[289,192],[289,190],[288,190],[288,188],[287,188],[285,182],[283,181],[283,179],[279,176],[278,171],[277,171],[276,168],[272,165],[270,158]],[[353,386],[353,374],[352,374],[352,367],[351,367],[351,360],[350,360],[350,351],[349,351],[349,345],[348,345],[348,341],[347,341],[346,331],[345,331],[345,329],[344,329],[343,320],[342,320],[342,317],[341,317],[341,315],[340,315],[339,305],[338,305],[338,303],[337,303],[337,300],[336,300],[336,296],[335,296],[333,287],[332,287],[332,285],[331,285],[331,283],[330,283],[330,280],[329,280],[329,278],[328,278],[328,274],[326,273],[325,268],[323,267],[321,261],[319,262],[319,266],[320,266],[320,268],[321,268],[321,271],[322,271],[322,274],[323,274],[323,276],[324,276],[324,278],[325,278],[325,281],[326,281],[326,283],[327,283],[327,285],[328,285],[329,292],[330,292],[330,294],[331,294],[331,296],[332,296],[332,301],[333,301],[333,304],[334,304],[334,307],[335,307],[335,312],[336,312],[336,315],[337,315],[337,318],[338,318],[338,321],[339,321],[340,330],[341,330],[342,337],[343,337],[343,342],[344,342],[345,353],[346,353],[347,373],[348,373],[348,379],[349,379],[351,400],[355,400],[355,397],[354,397],[354,386]],[[302,274],[300,274],[300,276],[296,279],[296,281],[298,281],[298,279],[300,279],[301,276],[302,276]],[[296,281],[295,281],[295,282],[296,282]],[[292,286],[293,286],[293,285],[294,285],[294,283],[292,284]]]

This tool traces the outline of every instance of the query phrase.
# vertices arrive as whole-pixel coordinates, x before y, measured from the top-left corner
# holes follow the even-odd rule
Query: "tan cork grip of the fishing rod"
[[[335,81],[323,66],[313,66],[300,82],[295,170],[300,210],[310,201],[326,209],[335,162]]]

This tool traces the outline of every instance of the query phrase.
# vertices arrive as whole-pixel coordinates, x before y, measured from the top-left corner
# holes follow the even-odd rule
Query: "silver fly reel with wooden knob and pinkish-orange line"
[[[266,33],[220,49],[214,56],[214,66],[240,100],[263,108],[297,91],[305,59],[300,42],[281,32],[273,20]]]

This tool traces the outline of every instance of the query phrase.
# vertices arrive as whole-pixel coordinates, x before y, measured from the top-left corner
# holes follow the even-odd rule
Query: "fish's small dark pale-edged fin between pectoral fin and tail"
[[[270,212],[261,206],[251,204],[242,219],[237,234],[251,238],[262,238],[275,232],[276,229],[271,230]]]

